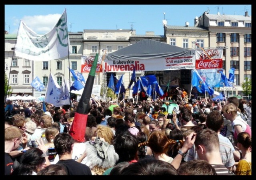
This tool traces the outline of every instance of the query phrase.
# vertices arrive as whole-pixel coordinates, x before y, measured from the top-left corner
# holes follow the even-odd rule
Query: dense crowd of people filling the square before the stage
[[[251,101],[183,95],[92,99],[84,142],[69,133],[78,102],[7,101],[5,175],[251,175]]]

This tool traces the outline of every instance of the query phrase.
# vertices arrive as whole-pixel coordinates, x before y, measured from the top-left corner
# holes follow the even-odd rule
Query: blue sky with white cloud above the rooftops
[[[164,35],[162,20],[168,26],[194,26],[194,18],[205,11],[210,14],[252,16],[251,4],[152,4],[152,5],[4,5],[5,30],[16,34],[20,20],[37,34],[46,34],[55,26],[66,9],[69,32],[83,30],[136,30],[137,35],[154,32]]]

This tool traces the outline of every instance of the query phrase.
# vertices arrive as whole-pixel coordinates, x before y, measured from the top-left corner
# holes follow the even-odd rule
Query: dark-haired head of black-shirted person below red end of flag
[[[59,133],[54,138],[55,151],[60,155],[71,154],[74,146],[74,139],[68,133]]]

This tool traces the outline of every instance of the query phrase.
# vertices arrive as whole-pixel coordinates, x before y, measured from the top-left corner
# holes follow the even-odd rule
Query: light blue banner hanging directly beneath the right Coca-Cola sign
[[[220,70],[221,69],[196,69],[199,75],[203,79],[203,83],[206,81],[210,87],[220,87]],[[223,85],[222,85],[223,86]]]

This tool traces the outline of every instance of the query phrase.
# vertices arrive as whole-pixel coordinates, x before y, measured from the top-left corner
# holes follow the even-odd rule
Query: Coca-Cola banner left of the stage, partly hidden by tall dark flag
[[[92,63],[94,60],[94,56],[82,56],[81,57],[81,73],[90,73]],[[96,72],[102,72],[102,58],[99,56],[98,57],[98,62],[97,62],[97,69]]]

